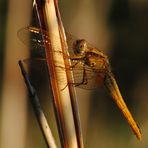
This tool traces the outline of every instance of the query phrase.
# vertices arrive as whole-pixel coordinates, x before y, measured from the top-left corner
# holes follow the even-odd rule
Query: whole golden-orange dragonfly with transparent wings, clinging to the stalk
[[[30,39],[26,37],[28,35],[31,37]],[[29,40],[31,49],[33,49],[36,57],[44,59],[41,61],[46,61],[45,43],[50,44],[47,31],[28,26],[22,28],[18,32],[18,36],[23,42],[28,42]],[[99,50],[88,43],[85,39],[77,39],[70,34],[66,34],[66,36],[69,56],[64,52],[60,54],[63,54],[65,58],[68,58],[72,64],[66,66],[66,68],[59,66],[59,69],[73,72],[74,82],[68,83],[75,87],[94,89],[100,82],[103,82],[134,134],[140,140],[142,137],[140,128],[123,100],[117,82],[111,71],[108,56],[102,50]]]

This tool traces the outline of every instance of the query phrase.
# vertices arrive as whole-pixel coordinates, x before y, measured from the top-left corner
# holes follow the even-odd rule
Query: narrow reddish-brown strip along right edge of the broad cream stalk
[[[62,20],[60,17],[60,12],[59,12],[59,7],[58,7],[57,1],[55,3],[55,9],[56,9],[56,14],[58,16],[57,19],[58,19],[59,31],[60,31],[61,41],[62,41],[61,43],[63,46],[62,49],[65,49],[66,51],[68,51],[68,46],[67,46],[67,42],[66,42],[66,38],[65,38],[65,31],[64,31],[64,27],[63,27]],[[67,54],[68,54],[68,52],[67,52]],[[65,64],[71,65],[70,60],[65,59]],[[66,74],[67,74],[68,80],[70,82],[72,82],[73,81],[72,73],[70,71],[66,71]],[[72,110],[73,110],[73,116],[74,116],[74,124],[75,124],[75,129],[76,129],[78,147],[83,148],[84,147],[83,135],[82,135],[79,108],[78,108],[78,103],[77,103],[77,96],[76,96],[75,87],[73,87],[72,85],[69,85],[69,91],[70,91],[70,98],[71,98],[71,104],[72,104]]]

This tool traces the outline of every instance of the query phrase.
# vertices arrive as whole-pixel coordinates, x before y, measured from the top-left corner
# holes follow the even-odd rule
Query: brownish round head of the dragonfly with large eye
[[[86,40],[76,40],[76,42],[74,43],[74,53],[76,55],[84,55],[87,51],[88,48]]]

